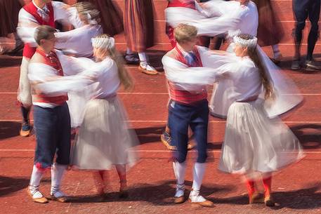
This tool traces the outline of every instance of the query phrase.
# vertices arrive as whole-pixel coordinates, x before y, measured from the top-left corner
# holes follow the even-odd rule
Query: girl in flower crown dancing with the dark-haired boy
[[[133,86],[122,63],[122,57],[114,48],[114,39],[105,34],[92,39],[96,62],[84,59],[91,67],[89,76],[96,79],[93,98],[86,103],[84,121],[79,128],[77,142],[72,152],[72,165],[85,170],[110,170],[116,166],[120,179],[119,192],[126,196],[126,164],[133,165],[135,156],[129,149],[138,140],[129,131],[126,112],[117,91]],[[100,171],[103,179],[103,171]],[[104,187],[100,194],[104,194]]]

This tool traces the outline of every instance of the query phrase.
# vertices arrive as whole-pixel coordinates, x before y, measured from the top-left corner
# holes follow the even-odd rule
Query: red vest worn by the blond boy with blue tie
[[[188,65],[188,62],[186,62],[183,56],[183,53],[179,50],[177,46],[176,53],[177,54],[175,59],[184,63],[185,65]],[[188,67],[202,67],[202,60],[196,47],[194,48],[193,53],[195,54],[197,60],[194,65],[188,65]],[[204,87],[202,88],[202,91],[190,93],[189,91],[176,89],[175,86],[173,86],[171,82],[169,82],[169,97],[171,98],[171,100],[174,100],[176,102],[180,102],[185,105],[193,105],[194,103],[199,102],[201,100],[207,100],[207,89]]]

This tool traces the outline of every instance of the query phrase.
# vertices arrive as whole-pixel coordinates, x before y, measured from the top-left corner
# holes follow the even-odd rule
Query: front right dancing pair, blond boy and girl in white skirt
[[[171,98],[169,128],[173,145],[177,147],[173,154],[177,181],[175,203],[185,201],[185,160],[190,126],[197,142],[198,156],[189,198],[192,203],[214,206],[201,196],[200,187],[207,159],[209,108],[206,86],[218,82],[223,83],[225,92],[214,105],[225,105],[224,108],[228,109],[219,169],[246,177],[249,203],[262,201],[254,185],[258,176],[262,176],[263,201],[266,206],[274,206],[272,173],[301,159],[303,154],[299,140],[289,128],[277,117],[270,119],[269,116],[275,113],[273,107],[284,110],[301,100],[284,101],[281,98],[280,82],[273,81],[275,76],[266,66],[269,59],[257,46],[256,37],[239,34],[234,37],[234,53],[221,54],[195,46],[197,29],[191,25],[178,25],[174,36],[176,47],[166,53],[162,62]],[[227,101],[227,97],[230,100]]]

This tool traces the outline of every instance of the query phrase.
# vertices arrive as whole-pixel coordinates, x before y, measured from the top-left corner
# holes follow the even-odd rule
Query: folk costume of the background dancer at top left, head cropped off
[[[22,41],[25,43],[23,49],[23,57],[20,66],[20,80],[18,88],[18,102],[21,105],[22,111],[22,129],[20,135],[26,137],[30,135],[31,126],[29,121],[30,107],[32,105],[32,96],[30,83],[27,78],[28,65],[30,58],[36,51],[36,42],[34,41],[34,31],[39,25],[48,25],[55,27],[55,20],[63,20],[70,22],[74,27],[80,27],[82,24],[79,21],[77,12],[65,10],[64,4],[57,1],[51,1],[39,8],[34,1],[25,5],[19,12],[19,23],[17,32]]]

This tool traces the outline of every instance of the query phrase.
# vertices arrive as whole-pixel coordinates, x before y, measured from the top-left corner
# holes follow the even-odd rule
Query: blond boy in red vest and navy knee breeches
[[[171,67],[188,69],[189,67],[202,67],[202,60],[197,50],[197,29],[190,25],[178,25],[174,29],[177,41],[176,47],[166,53],[162,59],[167,79],[171,79],[169,70]],[[171,138],[176,145],[174,152],[173,170],[176,176],[175,203],[185,201],[185,171],[186,155],[188,153],[188,126],[194,133],[197,142],[197,162],[193,169],[192,192],[190,201],[201,206],[214,206],[214,203],[204,199],[200,195],[200,187],[205,173],[205,161],[207,159],[207,126],[209,121],[209,107],[207,102],[207,90],[205,86],[199,86],[192,93],[185,91],[179,84],[169,81],[169,128]]]

